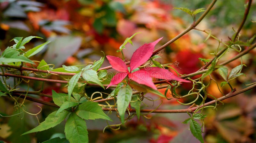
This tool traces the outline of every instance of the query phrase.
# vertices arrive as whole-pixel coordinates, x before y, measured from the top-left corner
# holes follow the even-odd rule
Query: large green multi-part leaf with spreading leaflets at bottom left
[[[70,97],[69,101],[68,98],[68,94],[58,94],[52,90],[53,102],[60,106],[60,108],[48,115],[48,117],[45,118],[45,121],[37,127],[22,135],[47,130],[60,124],[65,118],[68,118],[65,124],[65,135],[68,141],[70,143],[88,142],[88,131],[84,120],[101,118],[112,121],[103,112],[97,102],[87,101],[84,97]],[[62,140],[65,141],[65,139]]]

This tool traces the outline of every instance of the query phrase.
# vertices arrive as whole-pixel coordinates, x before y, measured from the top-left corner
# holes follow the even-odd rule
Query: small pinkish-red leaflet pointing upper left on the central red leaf
[[[119,72],[129,72],[124,61],[116,56],[106,56],[112,68]]]

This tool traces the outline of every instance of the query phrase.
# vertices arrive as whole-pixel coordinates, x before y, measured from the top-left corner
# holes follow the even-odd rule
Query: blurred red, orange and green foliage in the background
[[[212,11],[197,26],[199,29],[211,29],[212,34],[222,41],[229,41],[234,31],[237,29],[244,15],[244,4],[246,0],[219,0],[213,7]],[[54,64],[55,68],[65,65],[81,65],[99,60],[105,55],[120,56],[116,53],[123,41],[140,32],[133,39],[133,46],[126,45],[124,55],[127,60],[140,45],[145,42],[151,42],[159,37],[164,37],[156,47],[163,45],[186,27],[193,19],[183,11],[173,9],[174,7],[187,7],[195,10],[197,8],[206,8],[211,0],[0,0],[0,48],[3,51],[8,46],[13,45],[14,37],[27,37],[30,35],[43,37],[42,39],[33,39],[26,44],[26,50],[42,44],[47,40],[52,42],[33,60],[41,61],[44,59],[48,64]],[[251,11],[248,15],[243,30],[241,31],[241,41],[251,38],[256,31],[256,3],[253,1]],[[198,14],[196,18],[201,15]],[[252,21],[251,21],[252,20]],[[192,30],[182,36],[179,40],[169,45],[163,52],[158,55],[157,61],[161,64],[174,63],[175,68],[180,74],[196,72],[203,63],[198,60],[199,57],[210,59],[213,56],[219,42],[210,38],[206,42],[204,39],[207,34]],[[222,48],[223,45],[220,45]],[[230,50],[222,61],[230,59],[237,54],[236,51]],[[244,84],[255,82],[256,66],[255,49],[243,57],[245,76],[240,76],[232,81],[236,89],[242,89]],[[178,64],[179,63],[179,64]],[[228,68],[239,65],[240,60],[228,64]],[[102,67],[108,66],[107,60]],[[114,72],[115,70],[109,70]],[[220,84],[223,80],[217,73],[213,73],[213,78]],[[59,77],[52,76],[52,79]],[[106,81],[108,83],[109,81]],[[31,91],[40,90],[41,82],[32,81]],[[27,88],[19,87],[19,88]],[[183,94],[191,88],[190,84],[184,84],[178,93]],[[44,83],[45,94],[51,94],[51,90],[57,92],[67,92],[66,87],[60,84]],[[87,88],[88,95],[95,91],[103,91],[100,88]],[[159,90],[164,94],[165,89]],[[207,88],[208,93],[214,97],[221,97],[216,84],[211,84]],[[226,85],[221,88],[224,94],[230,89]],[[110,92],[107,90],[106,92]],[[217,107],[218,111],[210,108],[204,110],[208,115],[205,122],[203,133],[205,142],[256,142],[255,121],[256,121],[256,90],[253,89],[246,93],[240,94],[224,101],[224,105]],[[34,96],[34,95],[31,95]],[[153,94],[148,94],[153,99],[157,99]],[[168,94],[168,98],[172,95]],[[47,97],[36,97],[41,100],[51,101]],[[213,99],[213,98],[212,98]],[[207,99],[210,101],[212,99]],[[162,100],[162,99],[161,99]],[[189,102],[192,98],[182,99],[181,102]],[[147,102],[147,101],[146,101]],[[148,107],[142,106],[142,109],[155,109],[161,102],[158,100],[152,104],[148,102]],[[52,110],[52,107],[32,102],[26,102],[29,112],[36,113],[40,105],[43,110],[38,115],[40,122]],[[160,106],[161,109],[185,109],[175,99],[164,100]],[[15,114],[13,101],[6,98],[0,99],[0,113],[2,115]],[[5,113],[5,114],[4,114]],[[114,121],[108,124],[118,124],[120,121],[116,114],[109,115]],[[102,130],[107,126],[104,120],[88,121],[90,142],[191,142],[196,143],[198,140],[188,130],[188,125],[181,122],[188,118],[185,113],[179,114],[148,114],[148,118],[133,117],[127,122],[126,127],[120,130],[111,130],[107,128],[103,133]],[[56,136],[63,136],[64,125],[60,124],[55,128],[47,131],[20,136],[28,129],[38,125],[35,116],[24,114],[13,117],[0,117],[0,140],[6,142],[43,142]]]

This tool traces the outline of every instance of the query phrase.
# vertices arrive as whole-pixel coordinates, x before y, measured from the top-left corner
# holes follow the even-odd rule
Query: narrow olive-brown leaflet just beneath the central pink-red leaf
[[[145,93],[153,93],[153,94],[156,94],[158,96],[161,96],[161,97],[164,97],[166,98],[161,92],[159,92],[158,90],[155,90],[155,89],[152,89],[151,87],[148,87],[148,86],[145,86],[143,84],[139,84],[133,80],[130,81],[129,83],[132,88],[140,91],[140,92],[145,92]]]

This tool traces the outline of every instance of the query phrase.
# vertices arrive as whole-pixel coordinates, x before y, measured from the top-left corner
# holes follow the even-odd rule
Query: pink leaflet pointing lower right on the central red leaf
[[[157,90],[155,84],[152,82],[152,79],[149,76],[149,73],[146,71],[139,70],[136,72],[132,72],[129,73],[128,77],[139,84],[143,84]]]

